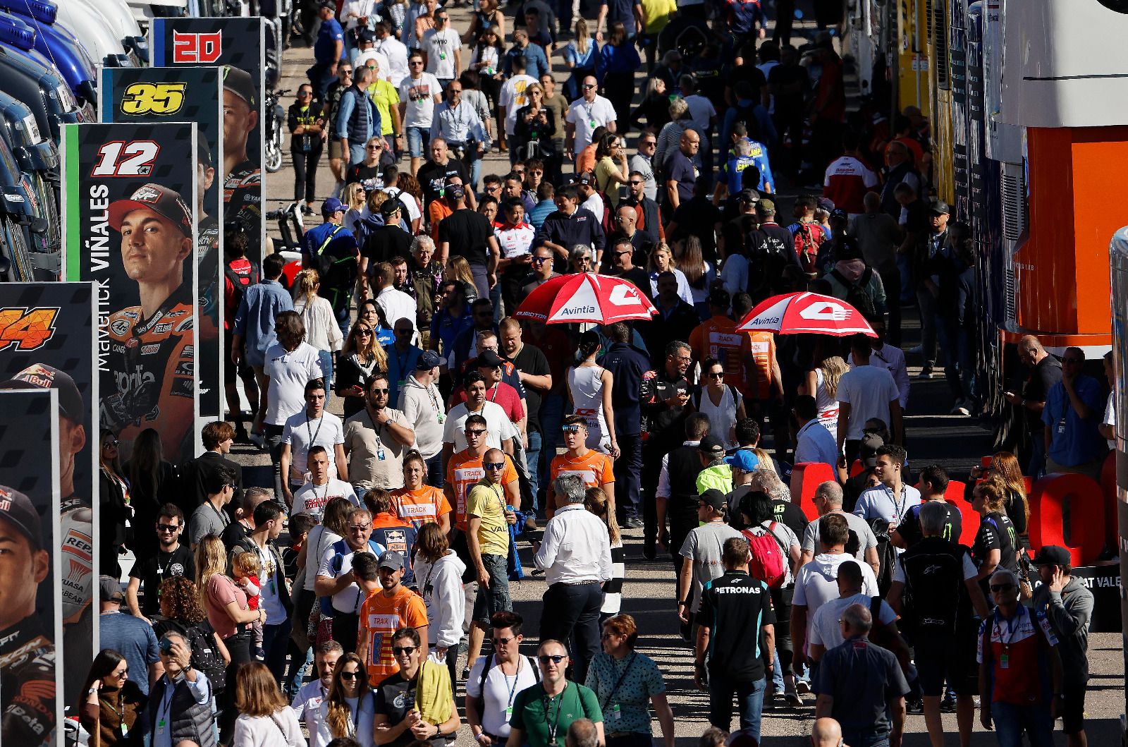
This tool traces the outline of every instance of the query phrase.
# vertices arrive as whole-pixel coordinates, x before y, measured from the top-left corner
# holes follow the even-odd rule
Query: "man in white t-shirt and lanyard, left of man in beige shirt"
[[[306,408],[288,418],[282,428],[279,468],[282,475],[282,498],[287,506],[293,504],[293,491],[306,483],[306,472],[298,465],[307,464],[310,447],[324,447],[329,460],[329,474],[336,472],[341,480],[349,480],[344,442],[344,424],[341,419],[325,412],[325,381],[314,379],[306,385]]]

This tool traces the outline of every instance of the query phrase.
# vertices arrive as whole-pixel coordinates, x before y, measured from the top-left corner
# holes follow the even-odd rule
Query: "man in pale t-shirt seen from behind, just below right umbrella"
[[[857,458],[862,446],[862,429],[871,418],[876,418],[889,427],[895,443],[901,442],[905,432],[901,427],[900,392],[889,371],[870,364],[872,352],[867,336],[854,335],[851,339],[854,368],[843,374],[838,380],[838,452],[846,455],[847,465]]]

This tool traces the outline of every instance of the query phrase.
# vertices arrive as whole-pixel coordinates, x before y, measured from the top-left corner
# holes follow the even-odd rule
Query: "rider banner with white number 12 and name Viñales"
[[[195,124],[63,130],[64,270],[97,289],[98,419],[123,462],[148,429],[169,462],[195,456]]]

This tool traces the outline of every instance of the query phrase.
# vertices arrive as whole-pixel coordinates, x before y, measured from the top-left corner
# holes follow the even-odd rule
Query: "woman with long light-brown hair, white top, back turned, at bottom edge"
[[[232,747],[306,747],[298,714],[279,689],[277,680],[262,661],[252,661],[235,678]]]

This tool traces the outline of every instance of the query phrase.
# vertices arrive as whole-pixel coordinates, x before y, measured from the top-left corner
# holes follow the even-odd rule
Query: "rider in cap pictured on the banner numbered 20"
[[[247,153],[258,126],[255,81],[246,70],[223,65],[223,218],[257,226],[262,220],[262,170]]]

